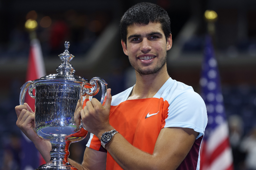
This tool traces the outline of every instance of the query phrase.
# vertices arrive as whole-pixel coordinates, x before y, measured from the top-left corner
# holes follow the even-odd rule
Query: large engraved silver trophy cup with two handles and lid
[[[35,99],[35,131],[39,137],[52,144],[51,160],[37,170],[76,170],[68,163],[69,145],[84,139],[88,133],[83,122],[76,129],[74,113],[77,102],[91,100],[102,89],[101,104],[106,100],[106,82],[98,77],[90,82],[74,75],[74,67],[69,64],[73,55],[69,53],[69,42],[65,42],[65,51],[59,55],[63,61],[57,67],[57,74],[49,74],[34,81],[28,81],[21,87],[19,103],[24,104],[28,89],[30,97]],[[32,91],[35,89],[35,96]]]

